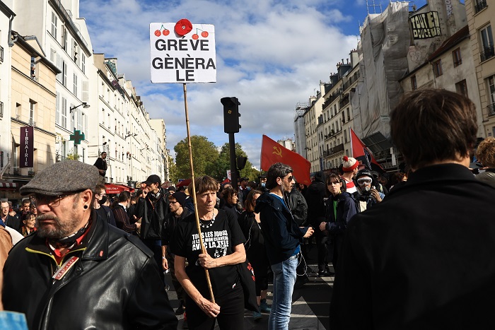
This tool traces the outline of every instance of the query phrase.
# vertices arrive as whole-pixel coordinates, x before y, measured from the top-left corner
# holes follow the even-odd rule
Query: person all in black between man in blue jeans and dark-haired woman
[[[325,198],[327,188],[325,187],[325,173],[316,172],[315,179],[308,186],[305,194],[308,203],[308,222],[315,228],[316,247],[318,249],[318,276],[330,276],[332,273],[328,268],[330,256],[328,255],[327,230],[320,230],[320,223],[325,221]]]

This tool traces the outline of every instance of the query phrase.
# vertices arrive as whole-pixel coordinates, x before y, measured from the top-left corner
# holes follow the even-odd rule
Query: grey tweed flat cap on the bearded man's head
[[[73,191],[94,190],[99,180],[100,172],[95,166],[78,160],[65,160],[38,172],[19,190],[21,195],[57,196]]]

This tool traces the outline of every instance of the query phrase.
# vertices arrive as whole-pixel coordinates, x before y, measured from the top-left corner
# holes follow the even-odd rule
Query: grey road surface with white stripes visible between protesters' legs
[[[291,322],[289,323],[290,330],[328,330],[328,313],[330,310],[330,297],[332,295],[333,276],[320,278],[318,266],[316,264],[316,247],[308,252],[308,278],[309,283],[303,285],[302,288],[294,289],[292,296],[292,311]],[[330,267],[332,269],[332,267]],[[171,283],[170,274],[165,276],[167,283]],[[177,295],[170,288],[168,292],[170,305],[175,310],[179,303]],[[268,287],[267,302],[272,304],[272,285]],[[177,329],[182,329],[182,316],[179,318]],[[263,314],[262,319],[255,322],[252,319],[252,312],[246,311],[244,314],[244,329],[266,330],[268,323],[268,314]],[[215,329],[219,329],[218,325]]]

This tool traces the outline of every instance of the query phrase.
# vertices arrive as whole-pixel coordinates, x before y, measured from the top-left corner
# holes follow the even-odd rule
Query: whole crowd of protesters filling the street
[[[485,253],[474,242],[491,242],[490,232],[495,232],[494,225],[487,222],[493,216],[493,206],[486,204],[495,187],[495,139],[489,137],[475,146],[472,103],[455,93],[419,91],[407,96],[399,107],[407,114],[392,112],[392,137],[408,165],[401,164],[400,170],[393,173],[376,172],[344,155],[338,169],[314,173],[308,186],[297,182],[289,165],[275,163],[257,182],[241,177],[235,184],[221,184],[204,176],[195,180],[197,190],[193,191],[192,184],[176,188],[170,182],[162,183],[158,175],[150,175],[133,193],[122,191],[110,196],[101,182],[100,169],[93,168],[91,172],[90,165],[78,162],[68,162],[66,168],[62,163],[49,167],[21,189],[21,194],[30,194],[21,205],[13,206],[10,201],[0,204],[0,267],[5,264],[4,285],[8,284],[3,291],[4,305],[25,313],[30,326],[66,326],[65,321],[57,319],[57,311],[52,312],[52,305],[62,310],[71,308],[70,303],[62,307],[71,297],[67,289],[59,297],[50,285],[35,277],[33,285],[42,283],[40,290],[45,291],[38,293],[28,285],[26,294],[45,304],[40,309],[13,297],[14,289],[25,285],[16,274],[23,273],[22,267],[33,271],[42,264],[50,264],[51,260],[41,261],[45,258],[40,257],[42,254],[53,259],[50,276],[56,279],[64,276],[63,271],[69,271],[71,260],[81,259],[75,269],[84,274],[84,267],[91,269],[98,258],[109,259],[110,254],[115,254],[125,259],[122,251],[127,249],[134,266],[141,265],[153,278],[148,288],[144,289],[146,284],[142,280],[134,282],[134,276],[140,276],[136,275],[137,269],[122,269],[115,259],[107,262],[112,265],[110,269],[125,274],[119,282],[124,287],[141,288],[142,292],[136,293],[140,300],[123,298],[129,298],[129,306],[136,310],[124,309],[115,314],[105,310],[103,303],[103,311],[94,320],[74,314],[74,326],[95,326],[105,319],[105,313],[114,313],[110,318],[115,324],[160,324],[157,329],[175,329],[177,320],[171,319],[173,311],[166,298],[168,284],[164,273],[170,272],[179,300],[175,315],[184,315],[184,327],[209,329],[219,322],[221,329],[243,329],[250,292],[245,290],[238,269],[249,261],[255,273],[252,318],[260,322],[263,314],[269,314],[269,329],[288,329],[293,289],[303,288],[310,281],[305,257],[308,247],[314,244],[318,276],[335,276],[330,310],[332,329],[426,329],[440,324],[469,327],[462,314],[456,313],[464,310],[466,304],[470,304],[473,316],[476,314],[471,317],[472,324],[477,324],[477,329],[486,329],[484,326],[492,322],[488,307],[494,304],[484,305],[486,315],[482,314],[483,308],[475,310],[473,306],[479,307],[479,302],[491,299],[495,285],[489,276],[495,274],[495,265],[488,262],[491,249],[485,249]],[[417,112],[417,107],[423,112]],[[437,120],[440,111],[446,117]],[[408,121],[424,122],[421,116],[431,119],[433,128],[445,133],[437,139],[438,147],[426,146],[432,139],[429,131],[414,130],[414,125],[404,129]],[[458,131],[450,130],[454,124]],[[407,134],[422,141],[421,146],[410,146],[404,140]],[[65,182],[50,181],[50,173],[60,175],[64,171]],[[83,175],[78,177],[75,173]],[[192,196],[193,193],[196,195]],[[73,196],[72,213],[65,201],[68,196]],[[193,199],[197,201],[197,215]],[[62,210],[58,209],[61,204],[65,207]],[[463,208],[467,204],[472,207]],[[81,207],[76,210],[77,205]],[[51,211],[59,218],[50,218]],[[447,215],[450,221],[445,223],[443,217]],[[69,231],[61,220],[68,216],[79,220],[78,225],[67,220]],[[197,220],[206,242],[204,250],[194,234]],[[50,226],[57,230],[50,230]],[[95,233],[95,228],[100,231]],[[107,236],[100,237],[103,232]],[[93,235],[98,240],[107,240],[98,243],[99,255],[93,254],[95,242],[88,238]],[[485,235],[484,239],[479,238]],[[28,238],[23,240],[24,237]],[[105,245],[110,242],[108,237],[119,242],[122,250]],[[23,249],[16,245],[21,240],[18,245]],[[453,243],[458,244],[458,249]],[[487,247],[492,246],[487,243]],[[9,251],[11,257],[7,257]],[[76,259],[67,259],[69,254],[77,256]],[[18,260],[13,261],[13,256]],[[469,265],[472,273],[461,271],[461,275],[453,275],[453,265],[459,263]],[[209,270],[209,276],[205,276],[204,269]],[[97,289],[99,284],[93,283],[94,292],[120,295],[119,288],[115,290],[103,274],[99,276],[106,286]],[[94,276],[86,277],[86,281],[95,281]],[[66,281],[74,278],[72,274]],[[211,281],[215,301],[209,299],[207,281]],[[267,302],[270,282],[272,305]],[[481,286],[475,288],[476,285]],[[86,294],[82,289],[68,287],[79,297],[93,293],[93,289]],[[163,308],[162,317],[145,310],[144,293]],[[82,301],[87,306],[102,306],[94,297]],[[114,308],[118,310],[117,305]],[[86,312],[91,313],[91,307]]]

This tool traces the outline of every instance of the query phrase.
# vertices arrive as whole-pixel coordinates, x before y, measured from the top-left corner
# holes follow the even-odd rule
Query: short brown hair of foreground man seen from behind
[[[474,103],[448,90],[414,90],[390,114],[392,141],[413,168],[469,156],[477,131]]]

